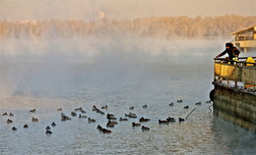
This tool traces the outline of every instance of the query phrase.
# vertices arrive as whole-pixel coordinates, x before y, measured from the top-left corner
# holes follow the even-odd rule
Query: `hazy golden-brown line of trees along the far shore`
[[[256,16],[218,17],[149,17],[135,20],[87,21],[19,21],[0,22],[0,38],[45,36],[88,37],[90,35],[131,34],[143,37],[172,38],[230,38],[231,32],[256,26]]]

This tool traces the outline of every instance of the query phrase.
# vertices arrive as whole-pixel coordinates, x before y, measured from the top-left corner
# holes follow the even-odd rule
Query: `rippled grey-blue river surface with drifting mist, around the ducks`
[[[0,114],[14,116],[0,117],[0,154],[255,154],[256,135],[213,116],[212,103],[206,103],[213,58],[223,46],[223,40],[6,40]],[[94,105],[107,105],[100,110],[117,118],[111,133],[96,129],[107,121],[92,111]],[[72,117],[79,107],[96,123]],[[118,121],[130,112],[138,118]],[[61,113],[72,120],[62,122]],[[141,117],[151,119],[142,123],[150,130],[132,127]],[[52,134],[45,133],[47,126]]]

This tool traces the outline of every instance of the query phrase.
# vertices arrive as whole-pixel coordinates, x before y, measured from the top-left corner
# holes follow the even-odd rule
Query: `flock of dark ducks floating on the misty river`
[[[181,103],[181,102],[183,102],[182,99],[177,100],[177,103]],[[206,103],[211,103],[211,101],[206,101]],[[201,102],[195,103],[195,105],[197,105],[197,106],[200,106],[201,104],[202,104]],[[172,106],[174,106],[174,103],[171,102],[171,103],[168,104],[168,106],[172,107]],[[143,105],[142,108],[147,109],[148,105]],[[189,106],[187,105],[187,106],[184,106],[183,108],[184,109],[189,109]],[[107,109],[108,109],[107,105],[100,106],[100,108],[96,107],[96,105],[93,106],[93,112],[96,112],[96,114],[101,115],[102,118],[105,118],[106,122],[107,122],[104,126],[97,125],[96,129],[99,132],[111,133],[112,132],[111,129],[113,129],[115,126],[117,126],[119,122],[130,122],[131,127],[133,127],[133,128],[141,128],[142,130],[150,130],[149,127],[147,127],[146,125],[143,125],[144,123],[150,122],[151,121],[150,118],[141,117],[141,118],[138,119],[137,114],[132,113],[132,112],[129,112],[128,114],[124,114],[123,117],[117,118],[115,116],[115,114],[108,112]],[[134,106],[129,108],[130,111],[132,111],[134,109],[135,109]],[[56,111],[58,111],[60,113],[61,122],[71,121],[73,118],[77,117],[79,119],[87,119],[88,123],[90,123],[90,124],[91,123],[96,124],[96,120],[94,118],[91,118],[91,117],[87,116],[86,115],[87,112],[82,107],[75,108],[73,111],[70,112],[70,115],[64,114],[62,112],[63,108],[58,108],[58,109],[56,109]],[[193,111],[191,111],[191,113]],[[28,113],[36,113],[36,110],[32,109]],[[7,121],[6,121],[7,124],[13,124],[13,120],[12,120],[13,116],[14,116],[13,113],[8,113],[8,112],[4,112],[2,114],[3,118],[4,117],[7,118]],[[172,117],[167,117],[165,119],[160,119],[158,121],[158,124],[167,125],[167,124],[171,124],[171,123],[175,123],[175,122],[181,123],[181,122],[184,122],[185,120],[186,119],[183,119],[183,118],[175,119],[175,118],[172,118]],[[36,122],[38,122],[38,119],[32,117],[32,123],[36,123]],[[56,123],[52,122],[50,124],[50,126],[45,127],[45,133],[46,134],[52,134],[51,128],[54,128],[55,126],[57,126]],[[23,126],[23,128],[28,129],[29,125],[26,124],[26,125]],[[13,127],[12,130],[17,130],[17,127]]]

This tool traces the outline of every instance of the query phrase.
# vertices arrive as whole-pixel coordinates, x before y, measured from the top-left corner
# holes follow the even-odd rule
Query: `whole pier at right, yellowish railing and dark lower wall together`
[[[215,59],[214,114],[256,133],[256,57]]]

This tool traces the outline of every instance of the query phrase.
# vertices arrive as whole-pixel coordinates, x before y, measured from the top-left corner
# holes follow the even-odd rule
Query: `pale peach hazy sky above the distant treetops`
[[[256,16],[256,0],[0,0],[0,21],[92,20],[152,16]]]

